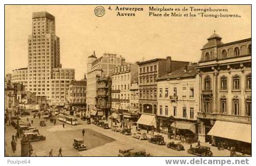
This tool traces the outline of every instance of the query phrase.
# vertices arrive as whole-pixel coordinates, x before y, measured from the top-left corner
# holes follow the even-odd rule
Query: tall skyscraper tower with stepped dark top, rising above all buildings
[[[59,67],[60,39],[55,35],[55,17],[48,12],[34,12],[32,35],[28,36],[28,90],[39,98],[50,97],[52,69]]]

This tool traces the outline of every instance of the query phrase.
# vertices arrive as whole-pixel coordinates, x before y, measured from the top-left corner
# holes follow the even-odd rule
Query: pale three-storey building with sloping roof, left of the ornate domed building
[[[197,137],[199,75],[196,66],[185,65],[157,79],[157,131]]]

